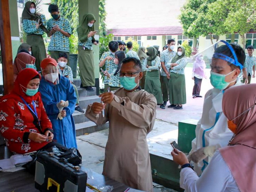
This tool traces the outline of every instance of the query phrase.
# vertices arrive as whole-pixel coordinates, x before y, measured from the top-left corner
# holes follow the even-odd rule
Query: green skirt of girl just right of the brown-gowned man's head
[[[163,103],[159,70],[147,71],[144,88],[145,91],[155,96],[157,104]]]

